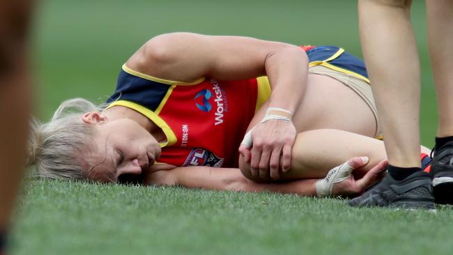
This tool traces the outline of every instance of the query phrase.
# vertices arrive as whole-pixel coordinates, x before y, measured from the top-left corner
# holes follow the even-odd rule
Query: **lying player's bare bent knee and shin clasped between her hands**
[[[429,155],[431,150],[422,146],[422,152]],[[333,167],[359,156],[369,157],[369,163],[355,171],[355,175],[360,177],[378,162],[387,158],[383,141],[343,130],[324,129],[301,132],[293,146],[291,169],[281,173],[279,180],[324,178]],[[245,163],[242,157],[239,160],[239,167],[247,178],[267,181],[254,178],[249,173],[249,164]]]

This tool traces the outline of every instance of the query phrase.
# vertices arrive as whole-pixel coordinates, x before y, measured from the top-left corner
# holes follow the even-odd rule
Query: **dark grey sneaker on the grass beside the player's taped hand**
[[[348,201],[349,206],[355,207],[393,207],[393,208],[423,208],[434,210],[433,187],[429,173],[417,171],[404,180],[394,180],[390,174],[368,190],[362,196]]]

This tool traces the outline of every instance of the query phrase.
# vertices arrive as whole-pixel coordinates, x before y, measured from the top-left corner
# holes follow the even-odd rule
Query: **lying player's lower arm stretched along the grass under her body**
[[[349,160],[351,171],[364,167],[367,162],[362,162],[360,157]],[[363,178],[355,180],[348,173],[347,178],[332,186],[330,196],[350,196],[360,194],[363,190],[380,178],[379,174],[385,169],[386,163],[379,162]],[[316,183],[319,179],[291,180],[280,183],[256,183],[245,178],[239,169],[213,168],[213,167],[174,167],[162,166],[160,171],[150,171],[144,178],[145,185],[180,185],[187,188],[201,188],[204,190],[229,190],[240,192],[279,192],[298,194],[301,196],[318,196]],[[321,180],[323,181],[323,180]]]

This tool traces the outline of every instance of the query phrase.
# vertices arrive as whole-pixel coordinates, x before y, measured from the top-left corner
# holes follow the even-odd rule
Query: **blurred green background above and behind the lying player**
[[[43,0],[37,6],[32,46],[36,114],[43,119],[68,98],[105,100],[114,90],[121,65],[160,33],[190,31],[296,45],[339,45],[362,56],[356,0]],[[432,146],[437,116],[424,2],[414,1],[412,12],[422,63],[422,144]]]

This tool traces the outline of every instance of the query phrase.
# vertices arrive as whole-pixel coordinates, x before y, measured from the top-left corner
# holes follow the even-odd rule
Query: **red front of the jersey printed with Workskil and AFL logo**
[[[177,141],[163,148],[159,161],[183,167],[236,167],[237,148],[254,116],[256,95],[256,79],[206,79],[177,86],[159,114]]]

